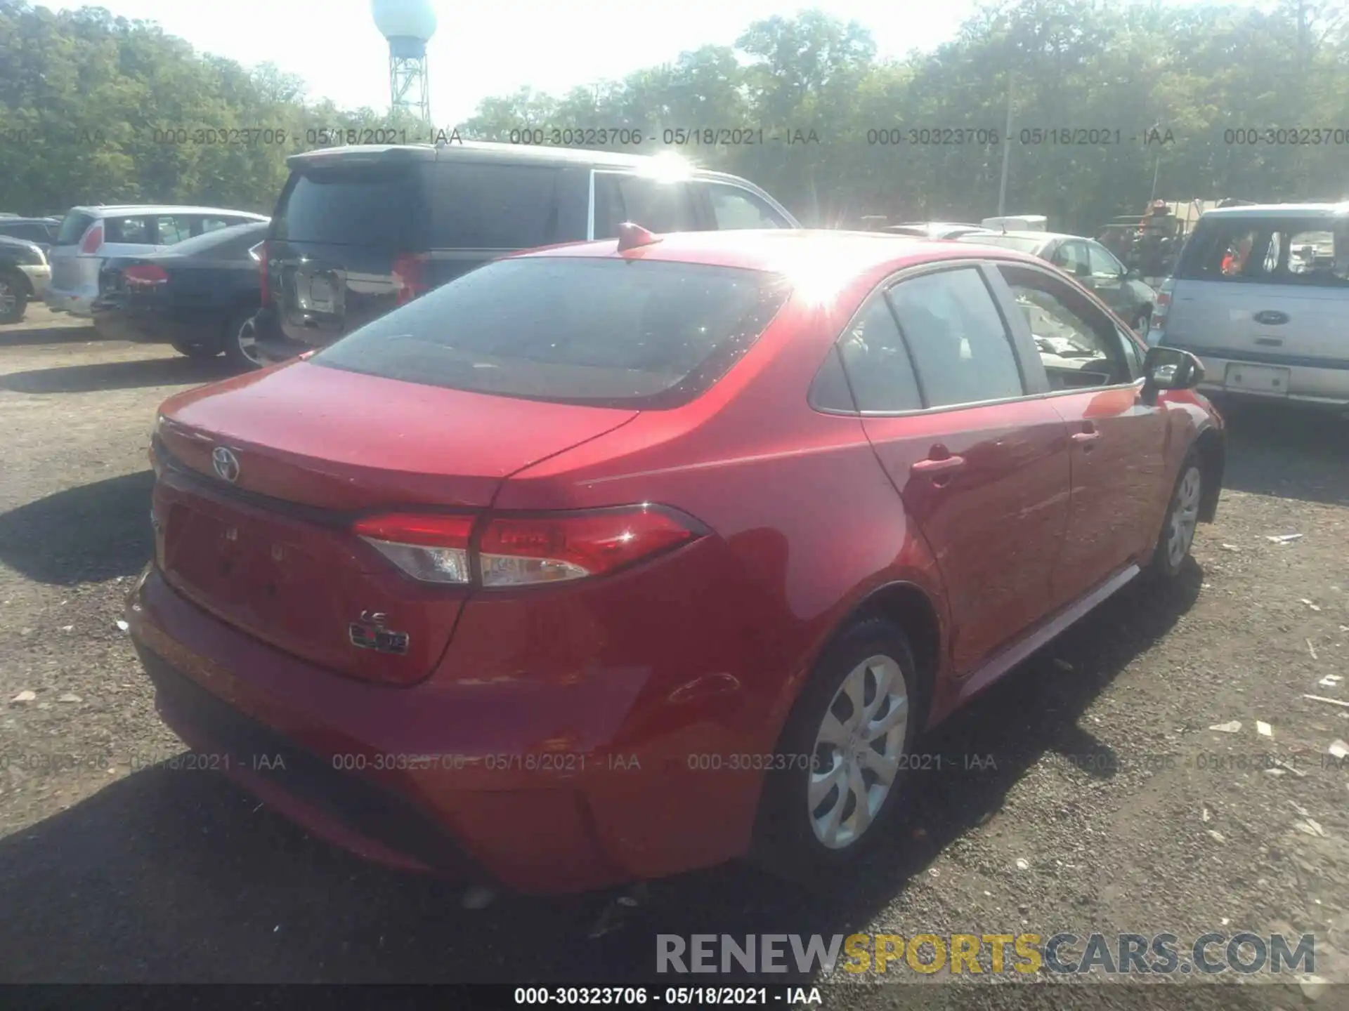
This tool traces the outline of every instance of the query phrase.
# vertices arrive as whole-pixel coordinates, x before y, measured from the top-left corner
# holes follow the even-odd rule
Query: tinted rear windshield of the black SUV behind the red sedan
[[[415,251],[421,178],[411,164],[308,168],[281,197],[275,239]]]

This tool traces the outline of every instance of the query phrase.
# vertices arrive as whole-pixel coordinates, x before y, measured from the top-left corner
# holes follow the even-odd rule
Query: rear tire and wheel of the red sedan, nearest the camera
[[[880,701],[882,690],[886,701]],[[866,724],[858,728],[854,720],[858,700],[863,713],[874,706],[869,743]],[[901,705],[897,724],[886,718]],[[913,650],[898,625],[867,619],[839,635],[816,662],[778,740],[755,821],[754,863],[811,886],[882,838],[902,809],[924,709]],[[869,751],[874,758],[866,758]],[[889,787],[878,793],[886,772]],[[859,814],[859,793],[867,794],[866,814]]]

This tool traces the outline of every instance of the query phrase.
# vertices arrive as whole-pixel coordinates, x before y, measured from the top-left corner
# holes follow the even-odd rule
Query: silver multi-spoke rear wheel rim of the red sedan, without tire
[[[909,696],[900,665],[869,656],[843,678],[815,737],[807,807],[830,849],[857,842],[881,811],[900,770]]]

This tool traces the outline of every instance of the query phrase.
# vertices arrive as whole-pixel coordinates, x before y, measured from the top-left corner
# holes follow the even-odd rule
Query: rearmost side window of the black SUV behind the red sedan
[[[441,249],[530,249],[557,241],[558,170],[464,162],[436,168]]]

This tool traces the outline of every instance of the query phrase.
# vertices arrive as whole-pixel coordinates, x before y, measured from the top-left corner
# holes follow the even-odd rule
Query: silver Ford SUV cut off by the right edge
[[[1205,390],[1349,407],[1349,204],[1206,212],[1152,326],[1203,357]]]

